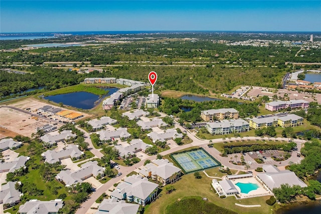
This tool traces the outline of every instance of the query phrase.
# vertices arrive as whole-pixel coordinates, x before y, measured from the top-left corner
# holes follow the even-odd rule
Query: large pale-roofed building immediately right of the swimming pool
[[[281,184],[289,184],[290,186],[299,185],[306,187],[307,185],[300,180],[294,172],[290,170],[280,171],[273,165],[263,165],[265,172],[258,173],[257,177],[272,191],[273,188],[279,188]]]

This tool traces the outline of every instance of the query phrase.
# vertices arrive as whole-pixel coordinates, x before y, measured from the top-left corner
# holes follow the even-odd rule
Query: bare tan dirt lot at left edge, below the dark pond
[[[41,102],[33,97],[13,102],[8,104],[10,106],[15,106],[19,109],[23,110],[29,110],[31,112],[37,110],[38,108],[42,108],[44,105],[48,105],[46,102]],[[49,104],[52,105],[52,104]],[[77,111],[73,111],[77,112]],[[36,114],[36,112],[33,112]],[[90,117],[90,114],[81,113],[85,117]],[[85,117],[82,117],[81,119],[84,119]],[[31,137],[31,134],[36,132],[37,127],[41,127],[45,124],[49,124],[49,121],[46,121],[44,119],[38,118],[38,120],[33,119],[32,116],[8,109],[8,108],[1,108],[0,109],[0,139],[4,137],[15,137],[17,133],[19,135],[28,136]],[[77,121],[77,120],[76,120]],[[60,126],[58,125],[57,128]]]

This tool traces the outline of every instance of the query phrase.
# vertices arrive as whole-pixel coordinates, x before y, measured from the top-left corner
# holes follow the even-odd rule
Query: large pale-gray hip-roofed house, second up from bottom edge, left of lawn
[[[146,205],[157,196],[158,185],[142,178],[140,175],[126,177],[110,194],[112,198],[127,199],[141,205]]]

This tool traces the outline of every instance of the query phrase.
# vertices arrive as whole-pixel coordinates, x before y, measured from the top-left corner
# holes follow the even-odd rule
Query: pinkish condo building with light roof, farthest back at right
[[[296,109],[296,108],[302,108],[306,109],[309,106],[309,102],[305,101],[303,99],[292,99],[289,101],[272,101],[272,102],[267,102],[265,103],[265,109],[271,112],[282,110],[282,109]]]

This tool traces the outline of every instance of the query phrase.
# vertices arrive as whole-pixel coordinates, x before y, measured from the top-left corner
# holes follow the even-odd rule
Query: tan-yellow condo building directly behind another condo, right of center
[[[201,118],[204,121],[238,119],[239,112],[235,109],[211,109],[201,112]]]

